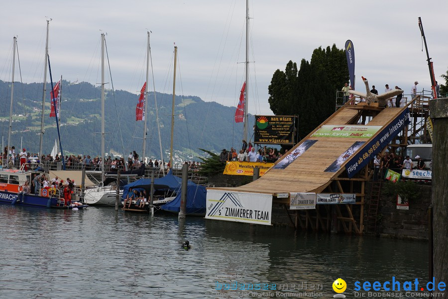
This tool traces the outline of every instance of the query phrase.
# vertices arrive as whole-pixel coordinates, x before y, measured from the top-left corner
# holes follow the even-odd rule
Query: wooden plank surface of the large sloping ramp
[[[368,142],[369,139],[357,138],[329,138],[329,137],[311,137],[323,125],[356,125],[361,111],[369,110],[369,106],[345,105],[337,110],[324,123],[298,143],[293,149],[283,155],[282,160],[287,157],[294,149],[299,147],[307,140],[316,140],[314,145],[298,156],[294,161],[284,169],[274,169],[273,166],[262,177],[254,182],[236,188],[208,188],[227,190],[234,192],[267,193],[276,196],[277,193],[290,192],[322,192],[332,181],[343,171],[345,163],[336,172],[326,172],[325,170],[356,141]],[[384,127],[393,121],[403,108],[380,108],[372,107],[371,111],[376,116],[366,126]],[[281,163],[279,160],[275,163]]]

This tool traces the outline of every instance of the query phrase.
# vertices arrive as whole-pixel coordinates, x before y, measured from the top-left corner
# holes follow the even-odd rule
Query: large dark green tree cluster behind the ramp
[[[348,82],[343,49],[334,44],[313,51],[311,62],[302,59],[300,68],[291,60],[285,71],[277,69],[269,85],[269,104],[275,115],[298,115],[299,135],[308,135],[334,111],[336,90]]]

